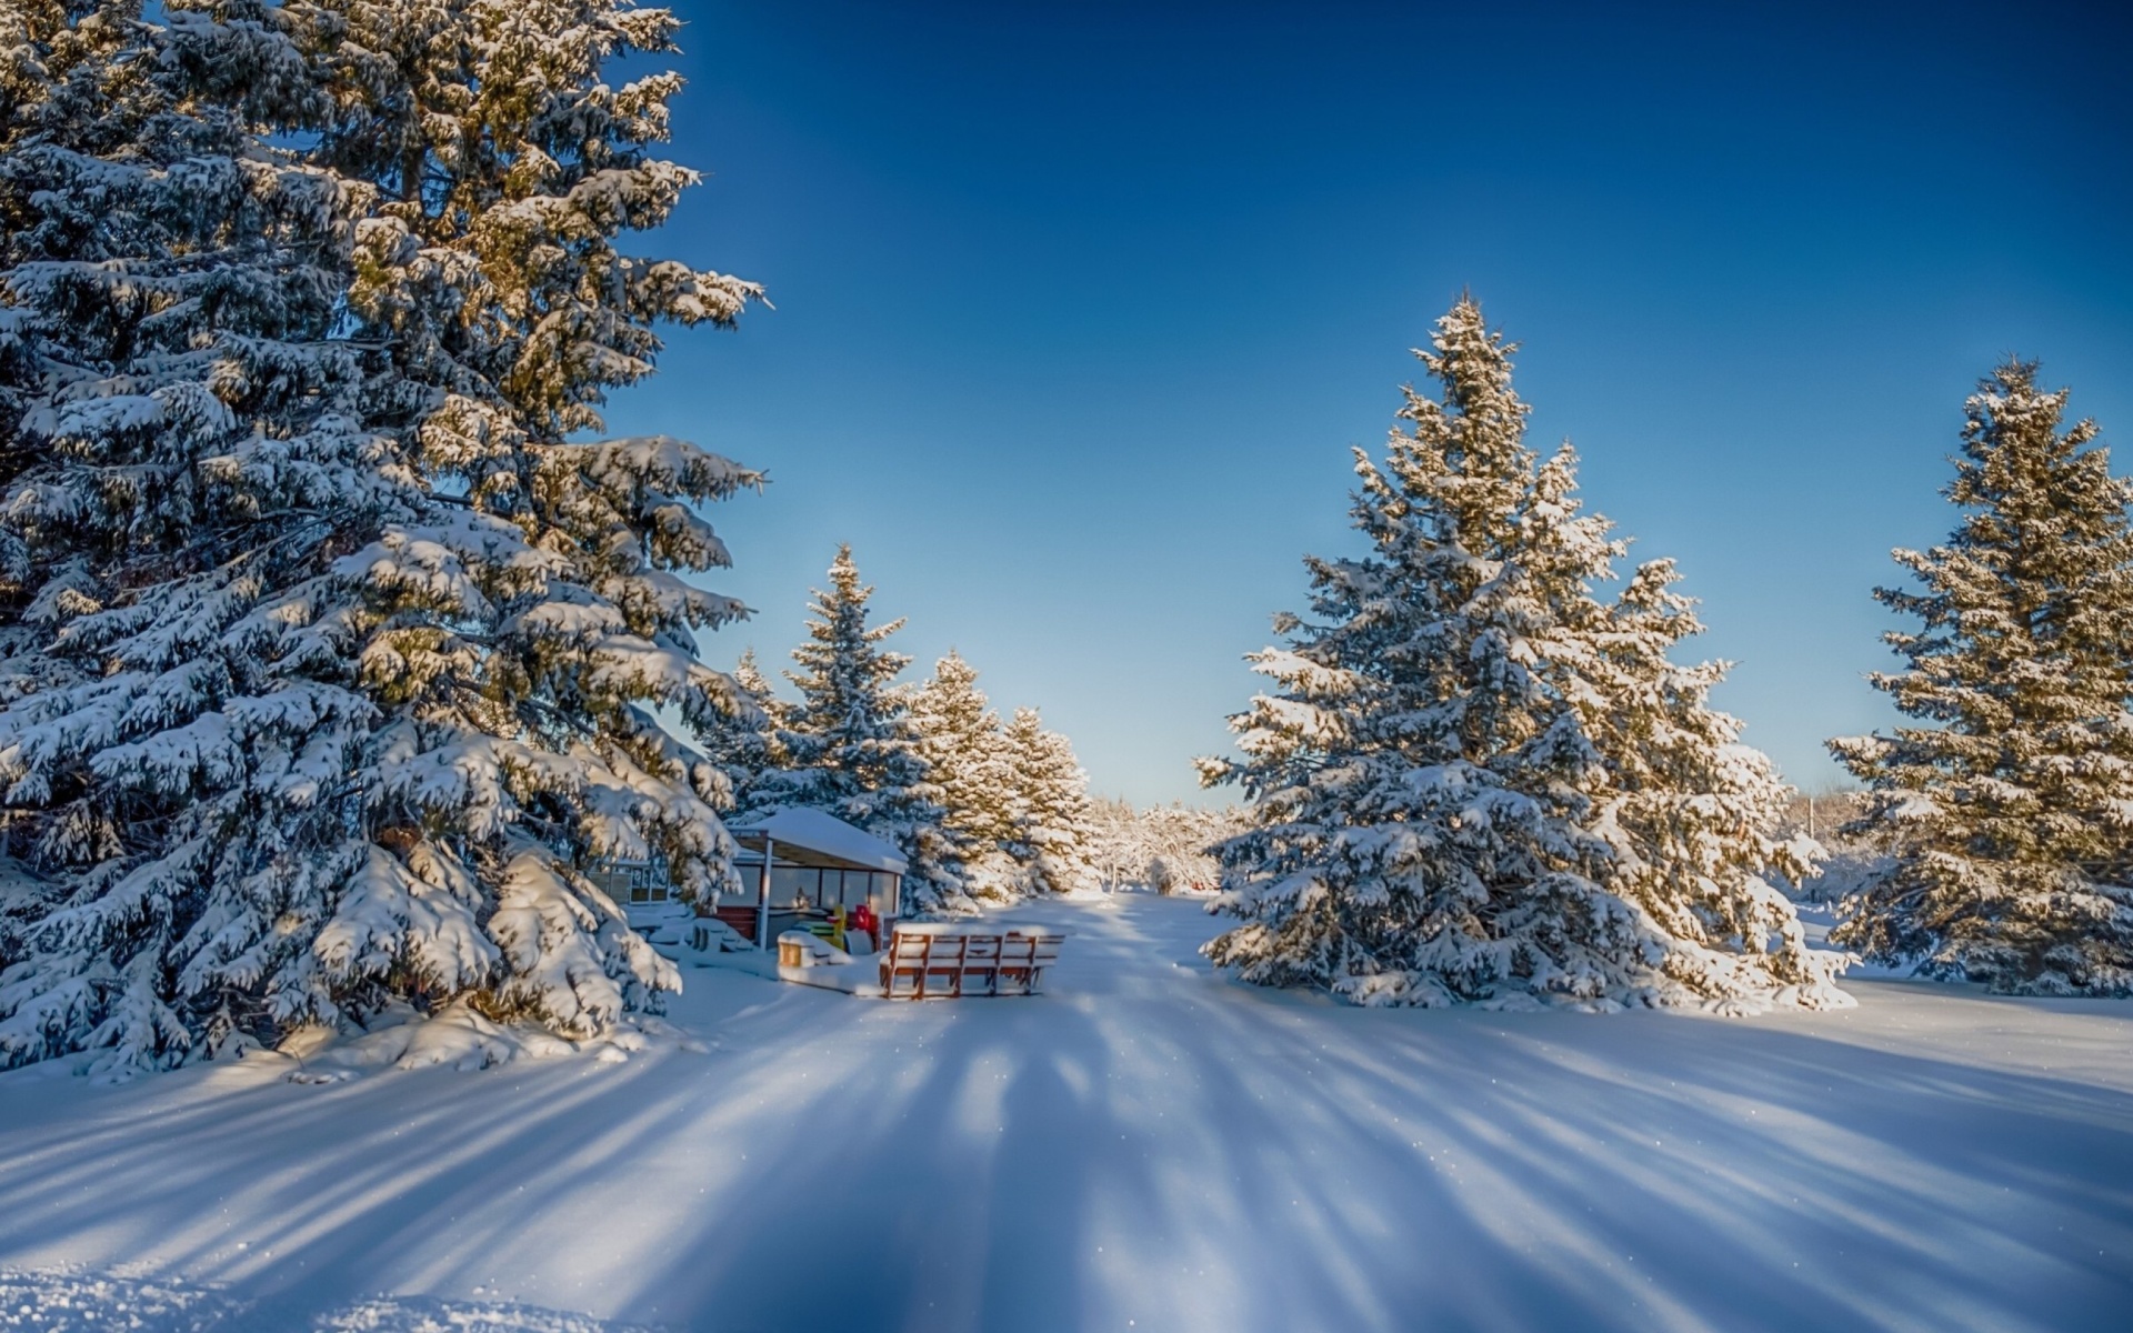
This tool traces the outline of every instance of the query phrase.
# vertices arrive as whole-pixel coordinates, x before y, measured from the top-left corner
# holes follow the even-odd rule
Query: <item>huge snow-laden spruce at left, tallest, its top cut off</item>
[[[655,320],[753,296],[614,250],[689,173],[646,151],[674,81],[599,68],[672,19],[232,2],[137,28],[147,119],[222,139],[158,160],[124,134],[32,203],[64,211],[47,235],[147,239],[6,277],[11,318],[100,341],[47,356],[81,371],[23,416],[55,448],[4,510],[79,680],[0,712],[11,845],[64,889],[0,981],[0,1054],[173,1064],[403,1000],[597,1034],[674,975],[578,866],[729,874],[715,774],[644,706],[732,702],[693,629],[738,606],[678,572],[725,563],[691,503],[755,476],[567,439],[648,373]]]

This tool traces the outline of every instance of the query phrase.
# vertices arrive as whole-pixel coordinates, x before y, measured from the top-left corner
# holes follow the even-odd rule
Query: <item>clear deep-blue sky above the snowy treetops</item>
[[[646,250],[776,311],[678,333],[610,427],[772,476],[712,514],[757,608],[712,663],[781,665],[851,542],[915,674],[960,646],[1105,793],[1209,800],[1461,288],[1809,787],[1892,717],[1869,589],[1950,529],[1977,375],[2037,356],[2133,441],[2120,4],[678,11],[710,179]]]

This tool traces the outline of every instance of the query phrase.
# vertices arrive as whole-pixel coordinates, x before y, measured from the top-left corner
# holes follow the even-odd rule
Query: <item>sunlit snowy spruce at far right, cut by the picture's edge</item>
[[[2014,994],[2133,994],[2133,484],[2060,429],[2067,392],[2001,365],[1964,405],[1947,544],[1877,589],[1918,631],[1875,674],[1926,725],[1832,740],[1871,789],[1847,832],[1894,855],[1832,932],[1928,977]]]

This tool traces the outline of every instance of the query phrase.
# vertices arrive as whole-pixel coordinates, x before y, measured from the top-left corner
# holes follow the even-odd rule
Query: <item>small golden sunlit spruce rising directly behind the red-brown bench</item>
[[[1007,853],[1013,838],[1015,774],[1000,714],[977,689],[977,670],[949,651],[930,680],[911,691],[919,755],[941,789],[941,825],[956,840],[973,898],[1013,898],[1022,868]]]

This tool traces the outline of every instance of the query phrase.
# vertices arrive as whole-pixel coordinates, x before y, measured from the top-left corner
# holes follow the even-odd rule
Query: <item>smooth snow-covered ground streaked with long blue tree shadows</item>
[[[0,1077],[0,1329],[2133,1324],[2133,1005],[1357,1011],[1197,902],[1013,915],[1049,996],[691,970],[627,1060]]]

